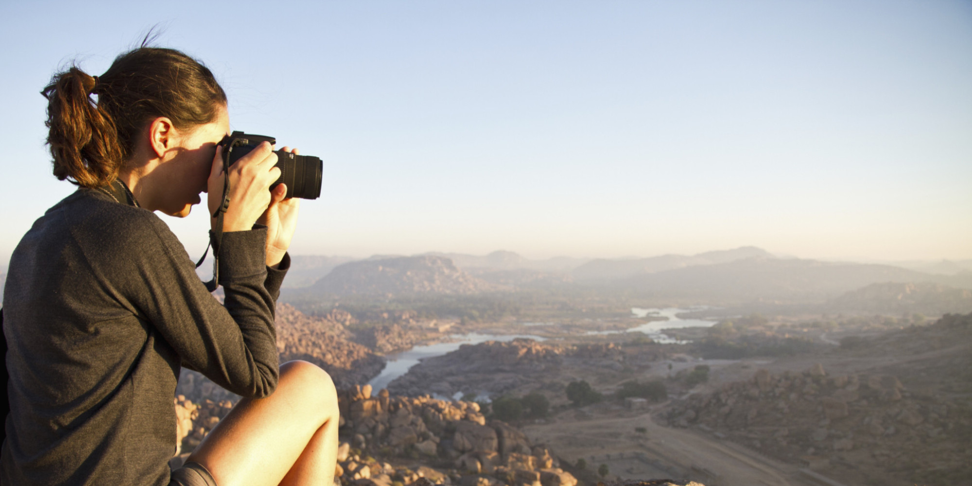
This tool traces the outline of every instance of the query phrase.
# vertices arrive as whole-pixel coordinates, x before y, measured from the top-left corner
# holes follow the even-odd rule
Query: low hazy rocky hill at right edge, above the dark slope
[[[964,314],[972,312],[972,291],[931,282],[884,282],[833,298],[826,307],[828,311]]]

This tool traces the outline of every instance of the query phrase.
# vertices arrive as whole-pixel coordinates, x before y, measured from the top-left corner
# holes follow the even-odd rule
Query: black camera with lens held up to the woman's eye
[[[263,142],[276,144],[277,140],[273,137],[242,131],[234,131],[232,135],[227,135],[220,142],[223,146],[226,167],[252,152]],[[278,184],[284,183],[287,185],[287,197],[317,199],[321,195],[321,173],[324,171],[324,163],[319,157],[296,156],[282,150],[274,154],[277,155],[275,166],[280,167],[280,178],[270,185],[271,190]]]

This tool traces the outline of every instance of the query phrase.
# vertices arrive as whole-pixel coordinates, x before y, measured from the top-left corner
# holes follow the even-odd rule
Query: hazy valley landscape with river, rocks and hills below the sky
[[[341,436],[357,459],[342,463],[342,481],[405,485],[418,468],[463,485],[972,478],[972,375],[954,372],[972,369],[972,327],[959,317],[972,313],[968,272],[779,260],[753,248],[627,262],[517,257],[350,261],[285,289],[282,361],[321,365],[349,403],[400,403],[366,417],[354,407],[372,405],[348,405],[359,419]],[[183,373],[185,400],[214,410],[234,400]],[[415,410],[430,406],[476,414],[427,432],[431,412]],[[409,419],[410,433],[380,418],[402,407],[423,417]],[[525,457],[488,440],[458,445],[453,431],[469,421],[483,427],[476,434],[519,431],[529,445],[515,454]]]

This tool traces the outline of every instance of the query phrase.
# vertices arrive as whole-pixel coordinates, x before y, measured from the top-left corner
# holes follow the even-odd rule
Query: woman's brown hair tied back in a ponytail
[[[191,129],[215,121],[226,105],[209,68],[183,52],[149,47],[122,53],[101,76],[71,66],[41,94],[48,98],[54,176],[87,188],[118,177],[146,123],[166,117]]]

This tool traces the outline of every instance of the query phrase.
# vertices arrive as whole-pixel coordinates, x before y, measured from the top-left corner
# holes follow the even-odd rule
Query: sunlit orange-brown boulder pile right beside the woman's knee
[[[487,421],[478,403],[447,401],[428,396],[392,397],[382,390],[371,397],[370,387],[355,387],[339,396],[344,417],[340,434],[347,440],[339,454],[342,481],[368,478],[384,484],[410,484],[425,477],[436,484],[498,486],[574,486],[570,472],[542,445],[532,444],[516,428]],[[437,468],[392,468],[367,456],[422,460]],[[341,457],[344,457],[342,460]],[[364,469],[364,468],[367,469]],[[387,480],[375,478],[380,470]],[[383,482],[384,481],[384,482]],[[360,484],[360,483],[356,483]]]

